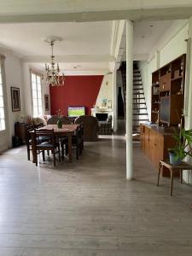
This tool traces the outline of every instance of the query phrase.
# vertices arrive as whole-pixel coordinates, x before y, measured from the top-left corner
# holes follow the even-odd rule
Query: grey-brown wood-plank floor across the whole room
[[[36,167],[26,149],[0,155],[0,256],[192,255],[192,189],[161,178],[134,146],[125,179],[125,138],[86,143],[84,155]]]

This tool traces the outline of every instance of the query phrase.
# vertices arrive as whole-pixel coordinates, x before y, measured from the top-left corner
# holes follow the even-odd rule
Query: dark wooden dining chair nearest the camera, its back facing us
[[[56,163],[55,154],[59,154],[59,160],[61,161],[61,151],[60,151],[60,143],[58,143],[55,138],[54,129],[52,130],[46,130],[46,129],[36,130],[35,129],[34,132],[35,132],[35,141],[36,141],[35,150],[37,154],[42,153],[43,160],[45,160],[44,151],[50,150],[53,154],[54,166],[55,166],[55,163]],[[38,143],[39,138],[41,137],[49,137],[49,141]],[[38,157],[36,160],[36,166],[38,166]]]

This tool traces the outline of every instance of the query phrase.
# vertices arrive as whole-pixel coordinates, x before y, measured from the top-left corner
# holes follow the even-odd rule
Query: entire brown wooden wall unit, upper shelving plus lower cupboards
[[[181,124],[183,113],[186,55],[181,55],[152,73],[151,122],[140,125],[141,147],[156,168],[169,159],[168,148],[175,146],[170,127]],[[161,127],[164,126],[164,127]],[[169,172],[163,169],[163,176]]]

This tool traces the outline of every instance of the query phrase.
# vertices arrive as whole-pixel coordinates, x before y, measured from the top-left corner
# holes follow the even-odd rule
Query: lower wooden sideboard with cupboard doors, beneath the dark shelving
[[[158,170],[160,160],[169,159],[167,148],[175,145],[172,131],[165,131],[158,125],[140,124],[141,148]],[[163,177],[170,177],[166,168],[162,172]]]

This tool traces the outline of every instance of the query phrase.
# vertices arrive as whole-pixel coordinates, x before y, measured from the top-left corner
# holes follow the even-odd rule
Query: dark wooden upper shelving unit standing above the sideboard
[[[178,125],[183,113],[186,55],[181,55],[152,73],[151,121]]]

